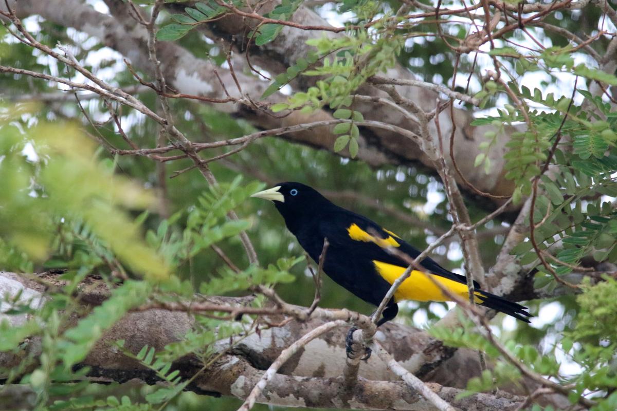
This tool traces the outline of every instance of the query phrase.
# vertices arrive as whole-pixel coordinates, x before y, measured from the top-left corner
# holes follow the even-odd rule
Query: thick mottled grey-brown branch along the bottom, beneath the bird
[[[41,277],[45,282],[57,281],[53,276]],[[81,290],[83,304],[100,304],[109,290],[102,283],[89,280]],[[31,282],[25,277],[10,273],[0,273],[0,294],[15,295],[22,290],[22,301],[33,299],[33,303],[39,304],[44,298],[43,286]],[[242,304],[242,299],[214,298],[211,302],[217,304]],[[2,315],[9,319],[12,324],[20,324],[26,315]],[[178,341],[178,338],[188,332],[193,323],[193,316],[186,311],[168,311],[167,309],[146,309],[144,311],[131,312],[120,322],[108,330],[101,341],[96,343],[93,351],[89,354],[82,365],[92,368],[91,376],[102,381],[118,381],[120,383],[138,378],[147,383],[154,383],[156,378],[136,362],[114,349],[114,341],[125,340],[125,349],[138,352],[145,344],[157,350],[165,344]],[[221,357],[216,364],[199,375],[189,389],[197,393],[220,393],[246,398],[251,389],[263,377],[263,369],[275,362],[281,351],[297,341],[300,336],[310,330],[325,324],[324,320],[315,319],[307,322],[288,322],[281,328],[265,329],[261,335],[251,335],[244,338],[241,343],[235,344],[234,348],[225,356]],[[381,344],[394,353],[399,364],[407,370],[413,370],[423,375],[421,365],[426,365],[429,357],[443,356],[436,341],[423,332],[416,330],[409,333],[410,329],[400,325],[387,325],[376,336]],[[377,356],[373,356],[368,364],[362,364],[360,377],[357,384],[352,388],[346,402],[342,402],[340,393],[344,388],[344,379],[341,370],[344,367],[344,330],[325,333],[305,345],[302,352],[292,356],[280,368],[279,373],[272,376],[268,381],[267,388],[258,402],[268,404],[309,406],[309,407],[338,407],[356,409],[397,409],[397,410],[431,410],[429,402],[413,391],[410,391],[404,383],[389,372],[386,365]],[[36,338],[35,338],[36,340]],[[229,340],[219,341],[216,345],[217,352],[230,348]],[[31,341],[25,350],[33,355],[39,350],[38,343]],[[462,352],[465,350],[459,350]],[[457,353],[458,354],[458,353]],[[466,354],[469,356],[469,352]],[[458,384],[464,378],[477,375],[470,373],[470,369],[462,366],[456,358],[452,368],[443,363],[445,375]],[[462,359],[461,359],[462,360]],[[0,367],[12,367],[20,361],[20,356],[10,353],[0,353]],[[466,360],[465,360],[466,361]],[[178,360],[175,367],[181,370],[185,377],[189,377],[199,369],[200,364],[192,357]],[[465,373],[468,373],[465,376]],[[434,374],[436,375],[436,374]],[[432,378],[439,381],[440,378]],[[429,388],[445,401],[455,407],[478,411],[515,410],[523,401],[521,397],[511,394],[498,393],[476,394],[462,401],[454,401],[454,397],[460,393],[460,389],[447,388],[439,383],[428,384]],[[475,404],[475,405],[473,405]],[[473,406],[472,406],[473,405]]]

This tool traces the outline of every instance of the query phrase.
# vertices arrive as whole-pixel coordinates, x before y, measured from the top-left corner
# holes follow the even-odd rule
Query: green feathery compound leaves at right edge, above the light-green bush
[[[533,94],[524,87],[521,89],[521,97],[557,110],[528,113],[537,127],[537,136],[550,136],[554,140],[564,134],[573,140],[573,150],[554,150],[553,177],[541,177],[540,190],[545,195],[537,196],[534,210],[539,250],[555,254],[557,259],[551,259],[550,264],[560,275],[573,271],[572,267],[578,266],[587,256],[595,261],[607,258],[616,261],[617,251],[613,250],[617,226],[615,221],[611,222],[615,211],[610,201],[602,197],[617,195],[617,181],[612,176],[617,166],[613,144],[617,134],[610,105],[587,91],[579,91],[587,99],[577,105],[571,104],[566,97],[557,101],[552,94],[543,97],[538,89]],[[608,121],[600,120],[600,115],[589,108],[584,111],[583,105],[589,102],[593,102]],[[512,120],[510,115],[500,113],[502,117],[495,120]],[[519,193],[532,193],[531,178],[539,174],[539,167],[548,160],[549,146],[553,142],[550,139],[540,142],[528,132],[513,134],[513,140],[508,143],[511,151],[507,154],[506,168],[510,169],[508,174],[512,178],[525,176],[526,179],[517,180]],[[537,252],[532,249],[531,241],[519,244],[512,251],[521,256],[523,264],[536,261],[537,265]],[[544,274],[536,276],[536,287],[551,284],[554,287],[546,267],[539,265],[538,269]]]

